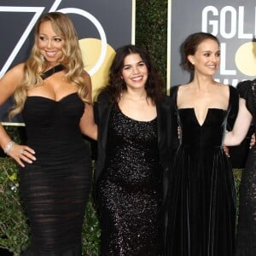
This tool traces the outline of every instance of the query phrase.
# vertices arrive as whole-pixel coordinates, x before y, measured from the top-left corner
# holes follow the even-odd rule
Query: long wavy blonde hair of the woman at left
[[[43,15],[35,26],[34,44],[32,46],[31,54],[25,63],[24,76],[14,93],[15,107],[10,111],[10,117],[20,113],[24,108],[26,91],[43,82],[40,75],[46,71],[47,61],[41,59],[41,54],[38,49],[38,35],[40,25],[45,21],[50,21],[55,33],[64,41],[62,49],[63,57],[61,58],[60,63],[65,67],[65,78],[67,82],[76,84],[79,97],[84,102],[87,102],[86,96],[89,90],[84,79],[84,63],[79,48],[77,32],[73,26],[73,22],[67,15],[60,12],[52,12]]]

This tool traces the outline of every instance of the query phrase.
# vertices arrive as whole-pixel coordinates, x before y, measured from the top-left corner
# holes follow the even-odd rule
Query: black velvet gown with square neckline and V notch
[[[172,99],[177,108],[177,90]],[[223,141],[229,109],[209,108],[202,125],[194,108],[176,109],[181,142],[171,172],[168,256],[231,256],[236,229],[236,190]]]

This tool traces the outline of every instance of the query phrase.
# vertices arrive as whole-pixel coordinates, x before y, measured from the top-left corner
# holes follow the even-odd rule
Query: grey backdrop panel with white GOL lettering
[[[189,73],[179,66],[180,47],[193,32],[210,32],[221,42],[216,80],[236,86],[241,80],[256,77],[254,0],[170,0],[168,8],[169,89],[189,82]]]

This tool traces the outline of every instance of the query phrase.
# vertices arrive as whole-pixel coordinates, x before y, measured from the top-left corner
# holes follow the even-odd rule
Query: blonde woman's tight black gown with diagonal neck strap
[[[61,70],[55,67],[44,74]],[[26,256],[80,256],[90,193],[90,150],[79,130],[84,102],[77,93],[55,102],[28,96],[22,115],[37,158],[20,167],[20,195],[31,228]]]

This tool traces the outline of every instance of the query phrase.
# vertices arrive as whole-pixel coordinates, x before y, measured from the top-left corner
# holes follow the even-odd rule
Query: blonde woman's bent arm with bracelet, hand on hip
[[[16,67],[9,70],[2,79],[0,79],[0,106],[12,96],[20,84],[23,77],[24,64],[17,65]],[[24,167],[25,161],[27,163],[32,163],[32,160],[36,160],[34,157],[34,151],[32,148],[26,145],[18,145],[12,143],[11,138],[4,130],[3,125],[0,123],[0,146],[3,151],[12,157],[20,166]]]

